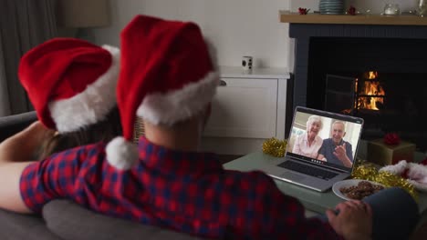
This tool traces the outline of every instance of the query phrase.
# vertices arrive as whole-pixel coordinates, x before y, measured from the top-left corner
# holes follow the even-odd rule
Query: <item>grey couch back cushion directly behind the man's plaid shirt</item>
[[[68,200],[54,200],[43,207],[47,228],[66,240],[92,239],[202,239],[151,225],[99,215]]]

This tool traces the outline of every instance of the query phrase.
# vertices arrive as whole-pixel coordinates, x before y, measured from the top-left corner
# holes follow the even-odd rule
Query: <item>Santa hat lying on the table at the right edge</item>
[[[380,172],[389,172],[406,178],[416,189],[427,192],[427,158],[419,164],[408,163],[401,160],[396,165],[386,165]]]

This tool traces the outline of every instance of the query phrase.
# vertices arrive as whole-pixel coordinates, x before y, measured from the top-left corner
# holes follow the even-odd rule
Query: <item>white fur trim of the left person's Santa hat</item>
[[[81,127],[96,124],[104,120],[116,105],[120,50],[110,45],[103,45],[102,48],[112,55],[109,70],[78,95],[49,104],[50,115],[59,133],[73,132]]]

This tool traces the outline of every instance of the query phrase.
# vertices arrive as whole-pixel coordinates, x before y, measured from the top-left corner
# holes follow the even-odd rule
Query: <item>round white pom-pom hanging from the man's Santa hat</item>
[[[105,149],[109,165],[120,170],[128,170],[138,162],[137,145],[126,141],[122,136],[111,140]]]

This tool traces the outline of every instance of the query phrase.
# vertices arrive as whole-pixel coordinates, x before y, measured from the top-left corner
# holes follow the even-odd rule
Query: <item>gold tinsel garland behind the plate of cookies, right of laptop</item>
[[[357,162],[351,177],[377,182],[381,185],[384,185],[385,187],[399,186],[410,193],[410,195],[415,200],[418,200],[417,191],[415,191],[413,185],[411,185],[411,183],[409,183],[406,179],[399,175],[393,175],[389,172],[379,172],[375,165],[372,165],[368,162]]]

